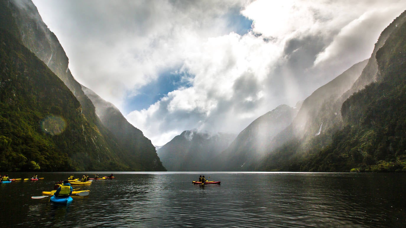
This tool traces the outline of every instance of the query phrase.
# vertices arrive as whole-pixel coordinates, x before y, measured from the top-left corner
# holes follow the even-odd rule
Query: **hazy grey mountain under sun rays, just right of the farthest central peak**
[[[286,104],[255,119],[231,145],[212,163],[214,170],[246,171],[253,170],[272,145],[269,142],[292,123],[302,102],[292,108]]]

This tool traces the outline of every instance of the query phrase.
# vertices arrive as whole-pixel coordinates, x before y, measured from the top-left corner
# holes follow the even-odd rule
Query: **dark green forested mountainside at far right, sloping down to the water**
[[[398,162],[391,171],[402,169],[405,21],[404,12],[382,32],[361,76],[333,103],[335,110],[337,104],[342,104],[342,119],[335,122],[337,127],[324,128],[323,132],[320,126],[313,137],[306,137],[302,130],[311,128],[299,128],[301,134],[272,151],[258,170],[349,171],[358,166],[358,170],[380,171],[389,170],[382,167],[391,162]],[[363,83],[370,84],[356,92]],[[349,96],[352,92],[356,93]],[[291,132],[296,133],[294,130]]]

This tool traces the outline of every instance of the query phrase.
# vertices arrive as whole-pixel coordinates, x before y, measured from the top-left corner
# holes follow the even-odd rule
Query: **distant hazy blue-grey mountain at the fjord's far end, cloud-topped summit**
[[[186,130],[158,149],[157,153],[169,171],[212,170],[211,163],[214,158],[226,149],[233,139],[233,134]]]

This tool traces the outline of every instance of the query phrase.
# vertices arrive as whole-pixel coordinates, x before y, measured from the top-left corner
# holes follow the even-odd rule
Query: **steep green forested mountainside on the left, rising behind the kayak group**
[[[124,145],[104,126],[32,6],[0,1],[0,171],[165,170],[148,139]]]

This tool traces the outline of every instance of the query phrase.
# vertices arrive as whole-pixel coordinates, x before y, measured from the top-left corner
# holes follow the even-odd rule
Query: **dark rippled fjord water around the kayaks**
[[[31,199],[69,174],[0,184],[0,227],[406,226],[406,174],[116,172],[116,179],[73,185],[91,192],[68,206]],[[199,175],[221,185],[193,185]]]

